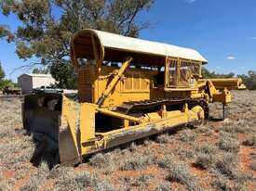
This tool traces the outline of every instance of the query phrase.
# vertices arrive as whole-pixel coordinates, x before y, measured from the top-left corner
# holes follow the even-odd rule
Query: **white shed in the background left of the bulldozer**
[[[51,84],[55,84],[56,81],[50,74],[24,73],[18,77],[18,83],[22,94],[30,94],[34,88],[50,86]]]

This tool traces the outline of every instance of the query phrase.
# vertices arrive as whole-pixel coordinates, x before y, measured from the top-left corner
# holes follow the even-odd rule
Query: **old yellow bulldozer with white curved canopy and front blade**
[[[208,60],[190,48],[111,32],[74,34],[78,94],[24,97],[23,125],[60,163],[209,118],[209,103],[232,101],[241,79],[203,79]]]

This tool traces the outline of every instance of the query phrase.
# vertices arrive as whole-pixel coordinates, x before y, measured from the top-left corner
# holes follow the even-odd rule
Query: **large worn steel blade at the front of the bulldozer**
[[[80,105],[67,95],[41,93],[24,97],[23,126],[34,137],[35,163],[49,156],[55,156],[54,163],[80,161],[76,140],[79,109]]]

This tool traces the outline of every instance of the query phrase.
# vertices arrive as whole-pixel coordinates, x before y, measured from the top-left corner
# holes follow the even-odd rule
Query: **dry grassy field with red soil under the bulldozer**
[[[0,190],[255,190],[256,92],[234,92],[211,120],[92,156],[78,167],[34,167],[20,99],[0,99]]]

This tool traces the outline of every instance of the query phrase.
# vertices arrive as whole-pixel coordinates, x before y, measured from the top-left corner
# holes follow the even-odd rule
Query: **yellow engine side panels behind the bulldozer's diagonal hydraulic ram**
[[[117,67],[102,67],[101,75],[94,83],[94,98],[96,103],[103,91],[113,79]],[[125,71],[120,82],[115,85],[114,91],[107,97],[103,108],[115,108],[124,102],[142,101],[153,97],[151,92],[155,81],[155,70],[128,69]]]

